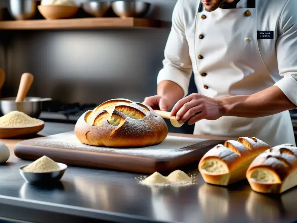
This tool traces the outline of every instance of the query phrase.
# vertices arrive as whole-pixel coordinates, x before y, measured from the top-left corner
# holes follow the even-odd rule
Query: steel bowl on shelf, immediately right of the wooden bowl
[[[81,4],[83,10],[95,17],[103,17],[110,8],[110,1],[88,1]]]

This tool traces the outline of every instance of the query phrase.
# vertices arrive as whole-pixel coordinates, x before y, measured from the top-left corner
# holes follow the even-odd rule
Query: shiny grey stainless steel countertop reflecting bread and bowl
[[[41,134],[73,128],[71,124],[46,123]],[[266,196],[253,192],[247,181],[227,189],[208,185],[199,175],[193,186],[150,188],[137,183],[139,174],[80,167],[68,167],[58,185],[40,188],[25,183],[19,174],[18,168],[26,163],[21,160],[14,165],[0,165],[0,216],[55,223],[86,222],[86,217],[115,222],[185,223],[297,219],[297,189],[282,196]],[[43,215],[43,211],[49,214]],[[54,215],[62,213],[75,218],[65,220]]]

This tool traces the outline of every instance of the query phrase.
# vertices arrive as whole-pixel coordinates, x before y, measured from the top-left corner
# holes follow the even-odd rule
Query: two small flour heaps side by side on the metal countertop
[[[164,177],[159,172],[154,172],[147,178],[141,176],[139,180],[139,183],[147,186],[189,186],[194,184],[194,179],[181,170],[175,170],[167,177]]]

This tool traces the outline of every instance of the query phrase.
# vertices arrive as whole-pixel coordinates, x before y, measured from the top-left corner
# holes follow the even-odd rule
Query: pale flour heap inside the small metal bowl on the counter
[[[58,170],[60,170],[59,165],[47,156],[42,156],[23,168],[23,171],[31,173],[45,173]]]

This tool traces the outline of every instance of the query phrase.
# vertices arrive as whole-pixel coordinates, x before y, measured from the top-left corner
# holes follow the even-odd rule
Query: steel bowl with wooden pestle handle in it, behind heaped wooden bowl
[[[1,98],[0,110],[2,114],[12,111],[20,111],[32,118],[38,118],[41,113],[42,101],[52,100],[51,98],[26,97],[22,102],[15,102],[15,97]]]

